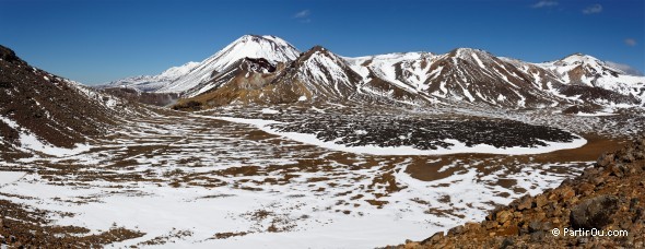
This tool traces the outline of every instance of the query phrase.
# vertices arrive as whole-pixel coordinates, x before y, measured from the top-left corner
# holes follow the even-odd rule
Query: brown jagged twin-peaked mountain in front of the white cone
[[[189,90],[192,97],[175,108],[191,107],[189,102],[200,103],[200,108],[233,103],[343,102],[357,93],[360,81],[361,75],[343,58],[315,46],[289,63],[274,66],[263,58],[238,60],[211,81]]]

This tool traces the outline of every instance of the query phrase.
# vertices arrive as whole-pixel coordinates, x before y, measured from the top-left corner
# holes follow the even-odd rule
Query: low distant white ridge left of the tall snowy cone
[[[183,66],[169,68],[157,75],[140,75],[126,78],[118,81],[113,81],[104,85],[104,87],[128,86],[142,92],[155,92],[171,84],[178,78],[187,74],[197,66],[199,66],[199,62],[190,61]]]

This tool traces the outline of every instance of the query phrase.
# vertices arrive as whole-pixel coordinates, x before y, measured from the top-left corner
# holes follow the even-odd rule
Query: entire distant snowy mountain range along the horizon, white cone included
[[[547,107],[645,105],[645,76],[574,54],[530,63],[458,48],[341,57],[316,46],[305,52],[275,36],[245,35],[202,62],[102,87],[178,93],[202,107],[232,103],[361,102]]]

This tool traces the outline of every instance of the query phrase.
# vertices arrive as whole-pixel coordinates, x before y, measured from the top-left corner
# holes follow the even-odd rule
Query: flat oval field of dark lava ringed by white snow
[[[282,120],[286,122],[272,127],[282,132],[316,134],[319,140],[345,146],[412,146],[419,150],[449,149],[454,144],[446,142],[448,139],[458,140],[466,146],[489,144],[495,147],[536,147],[546,146],[544,141],[573,142],[577,139],[556,128],[505,119],[321,115],[316,120]]]

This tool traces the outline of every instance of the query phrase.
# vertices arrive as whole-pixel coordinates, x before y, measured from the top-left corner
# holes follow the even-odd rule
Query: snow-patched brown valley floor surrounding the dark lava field
[[[379,110],[375,117],[355,117],[350,115],[355,110],[337,106],[149,111],[144,118],[124,120],[118,130],[93,141],[89,151],[58,157],[36,153],[31,158],[0,162],[0,242],[373,248],[407,238],[419,240],[479,221],[496,204],[559,186],[589,167],[600,152],[620,147],[622,134],[642,132],[638,126],[645,123],[641,115],[540,118],[544,115],[539,111]],[[390,135],[388,126],[397,123],[391,117],[418,120],[426,116],[435,117],[433,120],[469,121],[485,116],[492,121],[548,123],[582,134],[584,140],[547,143],[568,150],[540,150],[548,147],[540,141],[549,137],[536,140],[544,133],[527,127],[535,134],[508,137],[520,141],[526,135],[519,143],[536,150],[521,155],[507,155],[517,154],[513,150],[375,155],[333,145],[347,138],[348,130],[361,135],[371,132],[351,128],[352,121],[367,120],[361,126],[374,127],[366,123],[380,120],[383,133],[371,137],[376,139]],[[310,127],[316,122],[336,132],[327,143],[312,135],[330,132]],[[280,130],[288,128],[291,130]],[[304,135],[307,132],[314,133]],[[307,139],[298,139],[303,137]],[[415,146],[414,141],[399,137],[380,142],[396,140],[399,145]]]

